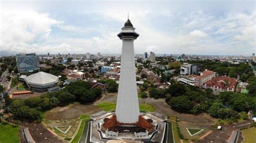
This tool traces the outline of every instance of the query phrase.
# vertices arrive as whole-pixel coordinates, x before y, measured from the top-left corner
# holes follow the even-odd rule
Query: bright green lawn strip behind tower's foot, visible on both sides
[[[116,109],[116,103],[103,102],[96,106],[98,106],[99,108],[103,108],[104,111],[111,111]],[[147,104],[147,103],[139,104],[139,109],[140,111],[146,111],[146,112],[156,111],[153,105]]]

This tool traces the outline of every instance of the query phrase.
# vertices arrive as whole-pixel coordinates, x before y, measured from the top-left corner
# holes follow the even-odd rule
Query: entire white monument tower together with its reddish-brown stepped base
[[[117,36],[122,40],[121,72],[115,112],[91,115],[93,141],[105,139],[163,142],[167,117],[156,112],[139,112],[133,41],[139,37],[129,18]],[[99,134],[98,134],[99,132]],[[90,140],[91,140],[90,139]]]

